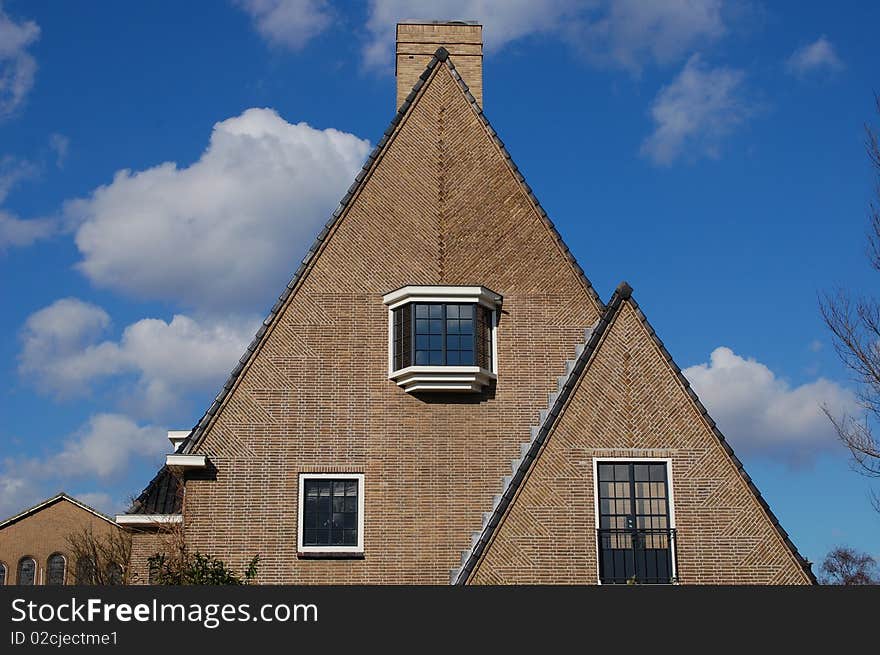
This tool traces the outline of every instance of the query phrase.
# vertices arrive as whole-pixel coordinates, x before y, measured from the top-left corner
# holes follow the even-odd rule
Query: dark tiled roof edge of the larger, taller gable
[[[504,143],[498,137],[497,132],[494,130],[492,125],[489,123],[489,120],[486,118],[485,114],[483,113],[483,110],[480,108],[480,106],[476,102],[474,96],[471,94],[470,90],[467,87],[467,84],[465,84],[464,80],[461,78],[461,75],[459,75],[458,72],[456,71],[455,65],[453,64],[452,60],[450,59],[448,51],[442,47],[438,48],[437,51],[435,52],[434,56],[428,62],[428,65],[426,66],[424,72],[419,77],[416,84],[413,86],[412,91],[409,93],[406,100],[401,104],[401,106],[398,109],[397,113],[395,114],[394,118],[392,118],[388,128],[385,130],[384,134],[382,135],[382,138],[379,140],[379,142],[376,144],[376,147],[373,149],[373,151],[367,157],[367,160],[364,163],[361,171],[355,177],[354,182],[351,184],[348,191],[342,197],[342,200],[340,201],[339,206],[336,208],[336,210],[330,216],[330,219],[326,222],[324,227],[321,229],[321,231],[317,235],[314,243],[309,248],[306,255],[303,257],[302,262],[300,263],[299,267],[297,268],[297,270],[294,273],[293,277],[291,278],[290,282],[287,284],[284,291],[278,297],[278,300],[275,302],[275,304],[269,310],[268,315],[263,320],[262,324],[260,325],[260,328],[257,330],[256,335],[254,336],[251,343],[248,345],[244,354],[241,356],[238,363],[235,365],[232,372],[229,374],[229,377],[227,378],[227,380],[224,383],[223,387],[221,388],[220,392],[217,394],[217,396],[214,398],[214,401],[211,403],[211,405],[208,407],[208,409],[205,411],[205,413],[199,419],[198,423],[190,431],[189,436],[187,436],[187,438],[178,447],[178,449],[177,449],[178,453],[192,453],[192,452],[195,452],[196,449],[199,447],[199,445],[201,444],[201,442],[206,434],[208,427],[212,424],[214,417],[217,415],[218,411],[223,406],[223,403],[226,401],[229,394],[232,392],[233,388],[236,386],[236,383],[240,379],[242,372],[247,368],[248,364],[253,360],[255,353],[260,349],[260,346],[268,337],[268,334],[271,330],[271,327],[273,326],[273,324],[276,322],[276,320],[278,319],[278,317],[282,313],[282,311],[283,311],[284,307],[287,305],[288,301],[295,294],[296,290],[299,288],[299,286],[303,282],[303,280],[306,277],[306,275],[308,274],[309,270],[311,270],[312,266],[315,263],[315,260],[320,255],[320,253],[323,250],[324,246],[326,245],[327,241],[331,237],[332,232],[333,232],[333,228],[344,218],[346,211],[351,206],[352,200],[357,196],[359,191],[362,189],[362,187],[366,183],[367,179],[370,177],[370,174],[375,169],[378,162],[382,159],[384,152],[387,150],[388,146],[392,142],[399,126],[404,121],[404,118],[406,117],[406,115],[413,108],[413,106],[416,103],[417,99],[419,98],[420,93],[422,92],[423,88],[426,86],[426,84],[428,84],[432,75],[435,74],[436,70],[441,65],[446,66],[449,73],[451,74],[451,76],[453,77],[453,79],[456,81],[459,88],[461,89],[468,104],[470,105],[470,107],[472,108],[472,110],[474,111],[476,116],[479,118],[480,122],[482,123],[482,125],[486,129],[489,136],[492,138],[495,145],[499,148],[507,165],[510,167],[511,173],[516,178],[517,182],[521,185],[523,191],[528,196],[530,202],[534,206],[535,210],[538,212],[538,214],[541,218],[541,221],[544,223],[544,225],[550,231],[550,234],[552,235],[553,240],[555,241],[558,248],[560,249],[560,251],[562,252],[564,257],[566,258],[568,264],[571,266],[571,268],[574,270],[576,275],[581,280],[589,298],[592,300],[592,302],[595,303],[595,305],[599,309],[599,311],[602,310],[604,305],[602,304],[602,301],[599,298],[599,295],[596,293],[595,289],[593,288],[592,284],[590,283],[590,281],[587,278],[586,274],[584,273],[583,269],[580,267],[578,262],[575,260],[574,256],[571,254],[571,251],[569,250],[568,246],[563,241],[562,236],[559,234],[558,230],[556,230],[556,227],[554,226],[553,222],[548,217],[547,212],[541,206],[540,202],[538,202],[538,199],[535,197],[535,194],[532,191],[531,187],[529,187],[529,185],[526,183],[525,178],[523,177],[522,173],[519,171],[519,168],[514,163],[513,158],[511,157],[510,153],[507,151],[507,148],[504,146]],[[141,494],[139,499],[148,499],[150,497],[158,498],[158,495],[161,495],[161,494],[157,495],[155,487],[156,487],[156,485],[162,483],[162,480],[163,480],[163,476],[161,474],[157,475],[150,482],[150,484],[147,486],[147,488]],[[161,503],[159,503],[159,505],[161,505]],[[132,510],[130,510],[130,511],[139,511],[139,506],[133,506]],[[162,513],[162,512],[157,512],[157,513]]]

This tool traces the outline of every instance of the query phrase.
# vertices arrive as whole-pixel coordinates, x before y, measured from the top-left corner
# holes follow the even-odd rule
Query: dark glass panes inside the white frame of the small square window
[[[306,479],[303,546],[358,545],[358,480]]]

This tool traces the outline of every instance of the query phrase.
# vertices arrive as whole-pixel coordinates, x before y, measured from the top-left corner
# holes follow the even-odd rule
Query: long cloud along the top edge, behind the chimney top
[[[603,66],[639,72],[725,34],[722,0],[371,0],[366,62],[390,68],[394,25],[408,18],[478,20],[486,49],[554,34]]]

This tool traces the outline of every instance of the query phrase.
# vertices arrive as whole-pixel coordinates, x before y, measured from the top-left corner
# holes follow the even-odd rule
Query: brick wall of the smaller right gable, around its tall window
[[[626,301],[471,582],[596,584],[594,458],[670,458],[682,584],[809,584]]]

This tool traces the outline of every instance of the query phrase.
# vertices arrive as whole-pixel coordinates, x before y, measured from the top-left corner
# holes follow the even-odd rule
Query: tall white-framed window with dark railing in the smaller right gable
[[[597,462],[602,584],[668,584],[675,577],[675,529],[667,463]]]

